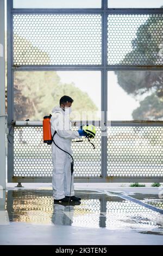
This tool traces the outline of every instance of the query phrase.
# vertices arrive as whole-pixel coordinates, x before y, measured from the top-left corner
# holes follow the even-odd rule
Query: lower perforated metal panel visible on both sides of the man
[[[74,127],[74,130],[77,130]],[[97,127],[93,139],[96,149],[85,139],[72,143],[74,176],[97,177],[101,175],[101,129]],[[14,128],[14,176],[51,177],[52,147],[43,143],[42,127]]]

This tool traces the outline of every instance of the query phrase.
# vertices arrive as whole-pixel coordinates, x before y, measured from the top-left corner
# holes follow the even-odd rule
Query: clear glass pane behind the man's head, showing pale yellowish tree
[[[14,120],[42,120],[63,95],[74,100],[72,120],[99,120],[101,71],[15,71]]]

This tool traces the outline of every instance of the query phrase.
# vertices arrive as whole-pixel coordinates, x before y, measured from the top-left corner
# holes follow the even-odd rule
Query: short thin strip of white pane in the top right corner
[[[162,0],[108,0],[108,8],[160,8]]]

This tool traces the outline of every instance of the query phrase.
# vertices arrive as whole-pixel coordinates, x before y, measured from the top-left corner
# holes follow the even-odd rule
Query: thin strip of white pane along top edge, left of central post
[[[101,0],[14,0],[14,8],[101,8]]]

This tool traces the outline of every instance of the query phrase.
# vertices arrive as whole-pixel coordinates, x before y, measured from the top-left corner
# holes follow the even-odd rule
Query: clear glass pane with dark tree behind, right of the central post
[[[162,71],[108,71],[108,120],[163,120]]]

